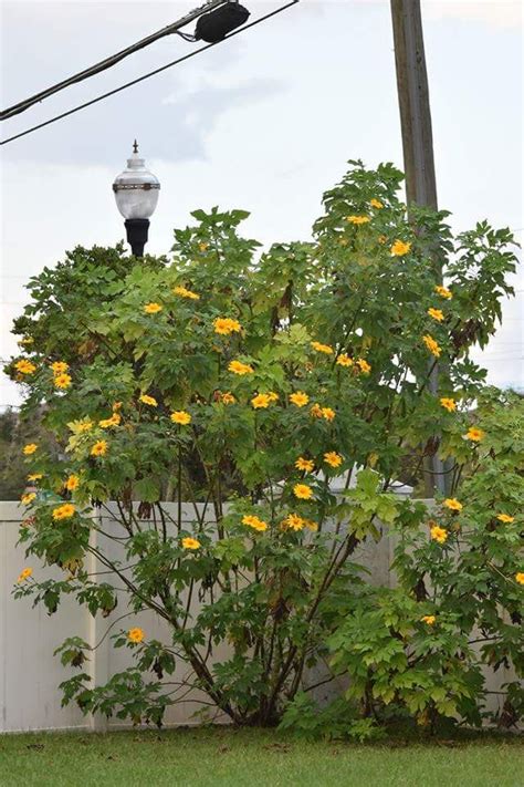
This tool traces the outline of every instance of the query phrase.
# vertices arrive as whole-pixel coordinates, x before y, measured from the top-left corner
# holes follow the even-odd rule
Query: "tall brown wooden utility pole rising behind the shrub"
[[[391,0],[391,19],[408,215],[409,206],[413,204],[437,210],[433,134],[420,0]],[[437,278],[441,281],[442,269],[437,261],[434,265]],[[431,366],[429,387],[437,395],[439,369],[437,364]],[[437,455],[427,457],[425,481],[428,496],[432,496],[434,489],[446,491],[448,474],[444,475],[444,469]]]

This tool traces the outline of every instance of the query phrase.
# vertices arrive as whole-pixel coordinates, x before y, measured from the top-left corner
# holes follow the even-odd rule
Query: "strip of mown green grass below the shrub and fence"
[[[516,736],[374,745],[272,731],[179,728],[0,736],[2,787],[522,787]]]

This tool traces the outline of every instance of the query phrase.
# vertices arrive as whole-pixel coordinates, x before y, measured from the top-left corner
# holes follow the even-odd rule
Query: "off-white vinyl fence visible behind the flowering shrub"
[[[338,489],[333,489],[338,491]],[[398,494],[409,494],[410,489],[402,487]],[[176,519],[177,504],[163,504],[167,512]],[[106,532],[113,531],[116,522],[111,514],[99,512],[99,525]],[[20,522],[23,518],[23,508],[17,503],[0,503],[0,733],[30,729],[106,729],[115,726],[128,726],[119,719],[106,722],[99,715],[84,716],[74,704],[61,707],[61,691],[59,684],[76,674],[74,669],[63,667],[60,657],[53,656],[53,651],[62,644],[67,636],[77,635],[94,646],[103,640],[107,628],[114,623],[109,636],[102,645],[90,654],[90,661],[84,669],[90,673],[93,685],[104,683],[108,677],[125,669],[132,663],[130,653],[126,648],[115,650],[111,644],[111,634],[119,629],[129,629],[134,625],[142,627],[148,639],[169,641],[165,623],[154,612],[143,612],[138,615],[118,618],[125,614],[125,592],[119,593],[118,607],[111,615],[103,619],[101,615],[93,618],[84,607],[78,607],[73,597],[63,597],[57,611],[48,615],[43,604],[32,607],[29,599],[15,600],[12,597],[13,584],[20,571],[25,566],[31,566],[34,576],[39,579],[50,577],[63,579],[63,571],[56,567],[42,567],[33,557],[24,557],[23,545],[17,546]],[[209,511],[211,519],[211,511]],[[190,525],[195,521],[195,509],[184,504],[182,519]],[[188,527],[188,529],[191,529]],[[104,538],[97,535],[97,538]],[[112,558],[118,558],[117,542],[104,539],[103,551]],[[116,546],[115,546],[116,545]],[[122,552],[120,552],[122,557]],[[392,586],[395,578],[390,572],[392,543],[387,534],[378,542],[365,543],[355,560],[365,565],[370,571],[370,581],[377,584]],[[90,571],[99,571],[101,567],[93,559]],[[101,580],[104,577],[102,576]],[[193,607],[193,611],[196,604]],[[216,657],[223,657],[218,652]],[[179,667],[175,680],[181,680]],[[189,673],[188,673],[189,674]],[[507,680],[501,674],[491,681],[492,690]],[[325,692],[325,696],[333,695],[336,686]],[[496,702],[496,695],[494,695]],[[201,710],[199,700],[203,695],[193,691],[186,696],[184,702],[168,708],[165,717],[167,725],[196,724],[193,714]],[[322,700],[322,696],[318,697]],[[222,721],[217,717],[217,721]],[[226,721],[226,719],[223,719]]]

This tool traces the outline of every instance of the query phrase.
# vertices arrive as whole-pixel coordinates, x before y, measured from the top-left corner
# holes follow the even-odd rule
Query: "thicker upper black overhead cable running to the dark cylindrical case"
[[[156,33],[151,33],[145,39],[142,39],[140,41],[137,41],[136,43],[132,44],[130,46],[126,46],[126,49],[123,49],[120,52],[117,52],[116,54],[113,54],[109,58],[101,60],[99,63],[95,63],[88,69],[84,69],[84,71],[80,71],[77,74],[73,74],[73,76],[69,76],[66,80],[63,80],[62,82],[59,82],[57,84],[52,85],[51,87],[46,87],[40,93],[35,93],[29,99],[24,99],[18,104],[13,104],[13,106],[9,106],[7,110],[0,112],[0,121],[6,121],[9,117],[19,115],[20,113],[29,110],[34,104],[44,101],[44,99],[49,99],[49,96],[53,95],[54,93],[59,93],[61,90],[64,90],[70,85],[76,84],[77,82],[83,82],[90,76],[94,76],[95,74],[99,74],[102,71],[111,69],[113,65],[116,65],[116,63],[119,63],[125,58],[128,58],[130,54],[138,52],[140,49],[149,46],[151,43],[155,43],[155,41],[158,41],[165,35],[170,35],[171,33],[179,33],[180,28],[184,28],[186,24],[189,24],[189,22],[192,22],[195,19],[198,19],[198,17],[201,17],[203,13],[206,13],[206,11],[211,11],[217,8],[217,6],[222,6],[224,1],[226,0],[208,0],[203,3],[203,6],[200,6],[199,8],[189,11],[189,13],[179,19],[177,22],[168,24],[166,28],[158,30]],[[182,38],[186,38],[184,33],[179,34]]]

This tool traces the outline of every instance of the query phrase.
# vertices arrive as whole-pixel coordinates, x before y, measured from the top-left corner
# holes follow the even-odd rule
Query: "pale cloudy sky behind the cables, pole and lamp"
[[[2,106],[169,24],[198,0],[3,1]],[[244,0],[256,18],[274,0]],[[282,0],[284,2],[284,0]],[[455,230],[523,219],[523,31],[520,2],[422,0],[440,207]],[[190,51],[169,37],[4,122],[2,137]],[[189,211],[252,215],[265,244],[306,239],[322,193],[349,158],[402,166],[387,0],[302,0],[180,66],[2,147],[2,358],[24,284],[75,245],[124,237],[112,182],[137,137],[161,182],[150,252],[171,246]],[[521,266],[522,268],[522,266]],[[497,385],[524,386],[524,277],[476,358]],[[18,404],[1,382],[0,404]]]

